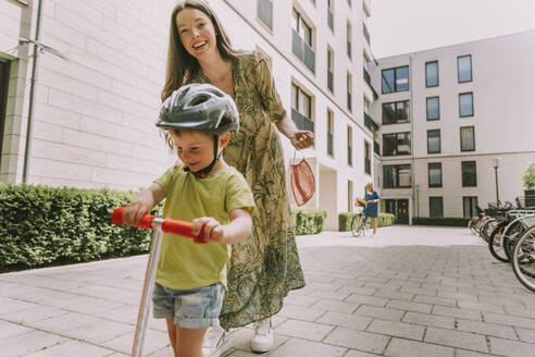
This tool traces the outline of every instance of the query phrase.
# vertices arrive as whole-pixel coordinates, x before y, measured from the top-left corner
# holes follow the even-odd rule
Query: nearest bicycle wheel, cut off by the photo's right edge
[[[522,285],[535,292],[535,225],[528,227],[517,242],[512,267]]]

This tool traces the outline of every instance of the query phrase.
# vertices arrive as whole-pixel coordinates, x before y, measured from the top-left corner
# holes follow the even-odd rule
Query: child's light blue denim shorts
[[[221,283],[194,290],[175,290],[155,283],[152,310],[155,319],[173,318],[181,328],[217,327],[224,295]]]

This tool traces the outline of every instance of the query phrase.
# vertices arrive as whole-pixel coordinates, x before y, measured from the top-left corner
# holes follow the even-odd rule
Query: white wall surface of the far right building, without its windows
[[[382,93],[380,100],[372,106],[373,116],[383,122],[383,150],[385,134],[410,133],[411,136],[410,155],[382,157],[383,167],[410,164],[412,168],[412,184],[406,188],[383,188],[383,205],[388,199],[407,199],[410,217],[430,217],[430,196],[443,197],[443,217],[466,214],[463,212],[463,197],[477,197],[477,204],[485,208],[488,202],[496,202],[494,167],[497,158],[500,159],[499,199],[514,202],[517,196],[523,195],[520,173],[535,162],[533,44],[535,32],[532,30],[377,60],[378,65],[371,70],[377,90],[383,89],[382,75],[391,73],[385,71],[409,67],[409,90]],[[458,78],[460,57],[460,61],[464,61],[461,67],[471,60],[471,81],[460,83]],[[427,87],[426,67],[430,70],[428,79],[432,79],[434,64],[426,66],[426,63],[433,62],[438,67],[438,85]],[[402,89],[401,71],[398,85]],[[472,96],[472,112],[469,106],[463,106],[461,113],[459,101],[470,99],[469,94]],[[427,113],[427,98],[435,97],[439,102],[438,119],[430,120],[427,116],[433,116],[433,111],[431,115]],[[434,100],[430,99],[430,104]],[[409,101],[409,122],[385,123],[383,104],[402,101]],[[461,150],[461,127],[471,126],[475,148]],[[438,130],[440,133],[439,152],[430,153],[427,150],[430,130]],[[398,147],[399,151],[403,152],[405,148]],[[462,161],[476,162],[475,186],[463,186]],[[428,163],[441,164],[441,186],[430,187]],[[382,186],[385,187],[384,172],[380,172],[380,175]]]

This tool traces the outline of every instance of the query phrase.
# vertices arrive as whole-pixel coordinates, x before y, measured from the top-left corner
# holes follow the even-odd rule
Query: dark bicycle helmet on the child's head
[[[157,126],[220,135],[239,130],[239,114],[233,98],[220,88],[188,84],[165,99]]]

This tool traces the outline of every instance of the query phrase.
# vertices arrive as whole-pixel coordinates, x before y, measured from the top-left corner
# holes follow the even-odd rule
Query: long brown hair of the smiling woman
[[[203,0],[184,0],[178,2],[171,13],[171,29],[169,36],[167,64],[165,70],[165,85],[163,86],[161,99],[165,100],[171,94],[182,87],[185,81],[195,76],[199,67],[196,58],[186,51],[181,41],[181,35],[176,26],[176,15],[186,8],[202,11],[213,24],[215,29],[215,40],[221,57],[227,60],[235,60],[240,51],[232,48],[231,40],[226,35],[221,22],[215,13]]]

